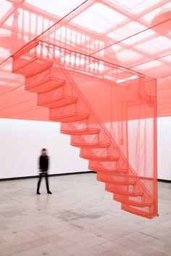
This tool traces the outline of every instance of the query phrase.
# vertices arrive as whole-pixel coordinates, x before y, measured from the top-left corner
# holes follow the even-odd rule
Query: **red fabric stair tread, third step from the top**
[[[56,107],[64,107],[70,104],[75,104],[76,102],[78,102],[77,98],[62,96],[58,99],[53,99],[51,101],[49,100],[46,102],[38,102],[38,105],[43,107],[56,108]]]

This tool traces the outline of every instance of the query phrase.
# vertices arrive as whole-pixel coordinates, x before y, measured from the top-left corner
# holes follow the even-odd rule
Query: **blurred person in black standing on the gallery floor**
[[[48,181],[48,168],[49,168],[49,157],[47,155],[46,149],[41,150],[41,156],[39,158],[39,180],[38,180],[38,186],[37,186],[37,194],[41,194],[39,192],[40,186],[41,186],[41,178],[45,176],[46,178],[46,189],[47,189],[47,194],[52,194],[51,191],[49,190],[49,181]]]

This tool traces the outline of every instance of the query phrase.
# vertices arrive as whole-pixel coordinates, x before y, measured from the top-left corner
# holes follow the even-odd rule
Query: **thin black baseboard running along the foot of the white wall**
[[[55,174],[49,174],[49,177],[51,176],[67,176],[67,175],[77,175],[77,174],[84,174],[84,173],[96,173],[93,172],[93,170],[86,170],[83,172],[76,172],[76,173],[55,173]],[[0,181],[13,181],[13,180],[22,180],[25,178],[38,178],[39,176],[24,176],[24,177],[12,177],[12,178],[0,178]],[[162,178],[158,178],[157,181],[171,183],[171,180],[165,180]]]

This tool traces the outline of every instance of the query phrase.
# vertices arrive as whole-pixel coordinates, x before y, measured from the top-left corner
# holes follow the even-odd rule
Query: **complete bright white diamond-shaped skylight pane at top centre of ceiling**
[[[112,28],[114,25],[126,19],[127,17],[121,15],[119,12],[115,12],[104,4],[96,3],[72,19],[72,22],[90,30],[104,33],[107,29]]]

